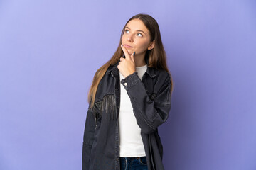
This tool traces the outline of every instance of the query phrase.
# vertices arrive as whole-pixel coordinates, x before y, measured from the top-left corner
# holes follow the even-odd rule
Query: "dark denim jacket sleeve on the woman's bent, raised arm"
[[[121,84],[127,90],[137,124],[142,132],[146,134],[154,132],[159,125],[167,120],[171,110],[171,77],[169,74],[157,77],[154,85],[154,89],[157,89],[154,100],[149,98],[137,72],[122,79]]]

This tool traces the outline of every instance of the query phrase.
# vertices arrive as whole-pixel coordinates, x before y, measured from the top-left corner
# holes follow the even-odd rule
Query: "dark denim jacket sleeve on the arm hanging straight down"
[[[92,143],[94,141],[94,132],[95,132],[95,117],[92,111],[88,109],[86,121],[85,121],[85,131],[84,131],[83,145],[82,145],[82,170],[89,169],[90,153],[92,149]]]

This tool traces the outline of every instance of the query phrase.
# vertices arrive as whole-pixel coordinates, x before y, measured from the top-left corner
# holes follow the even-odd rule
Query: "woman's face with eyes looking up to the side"
[[[124,28],[122,45],[127,49],[129,55],[135,52],[135,57],[144,57],[146,50],[151,50],[154,47],[150,39],[149,30],[144,23],[139,19],[133,19]]]

